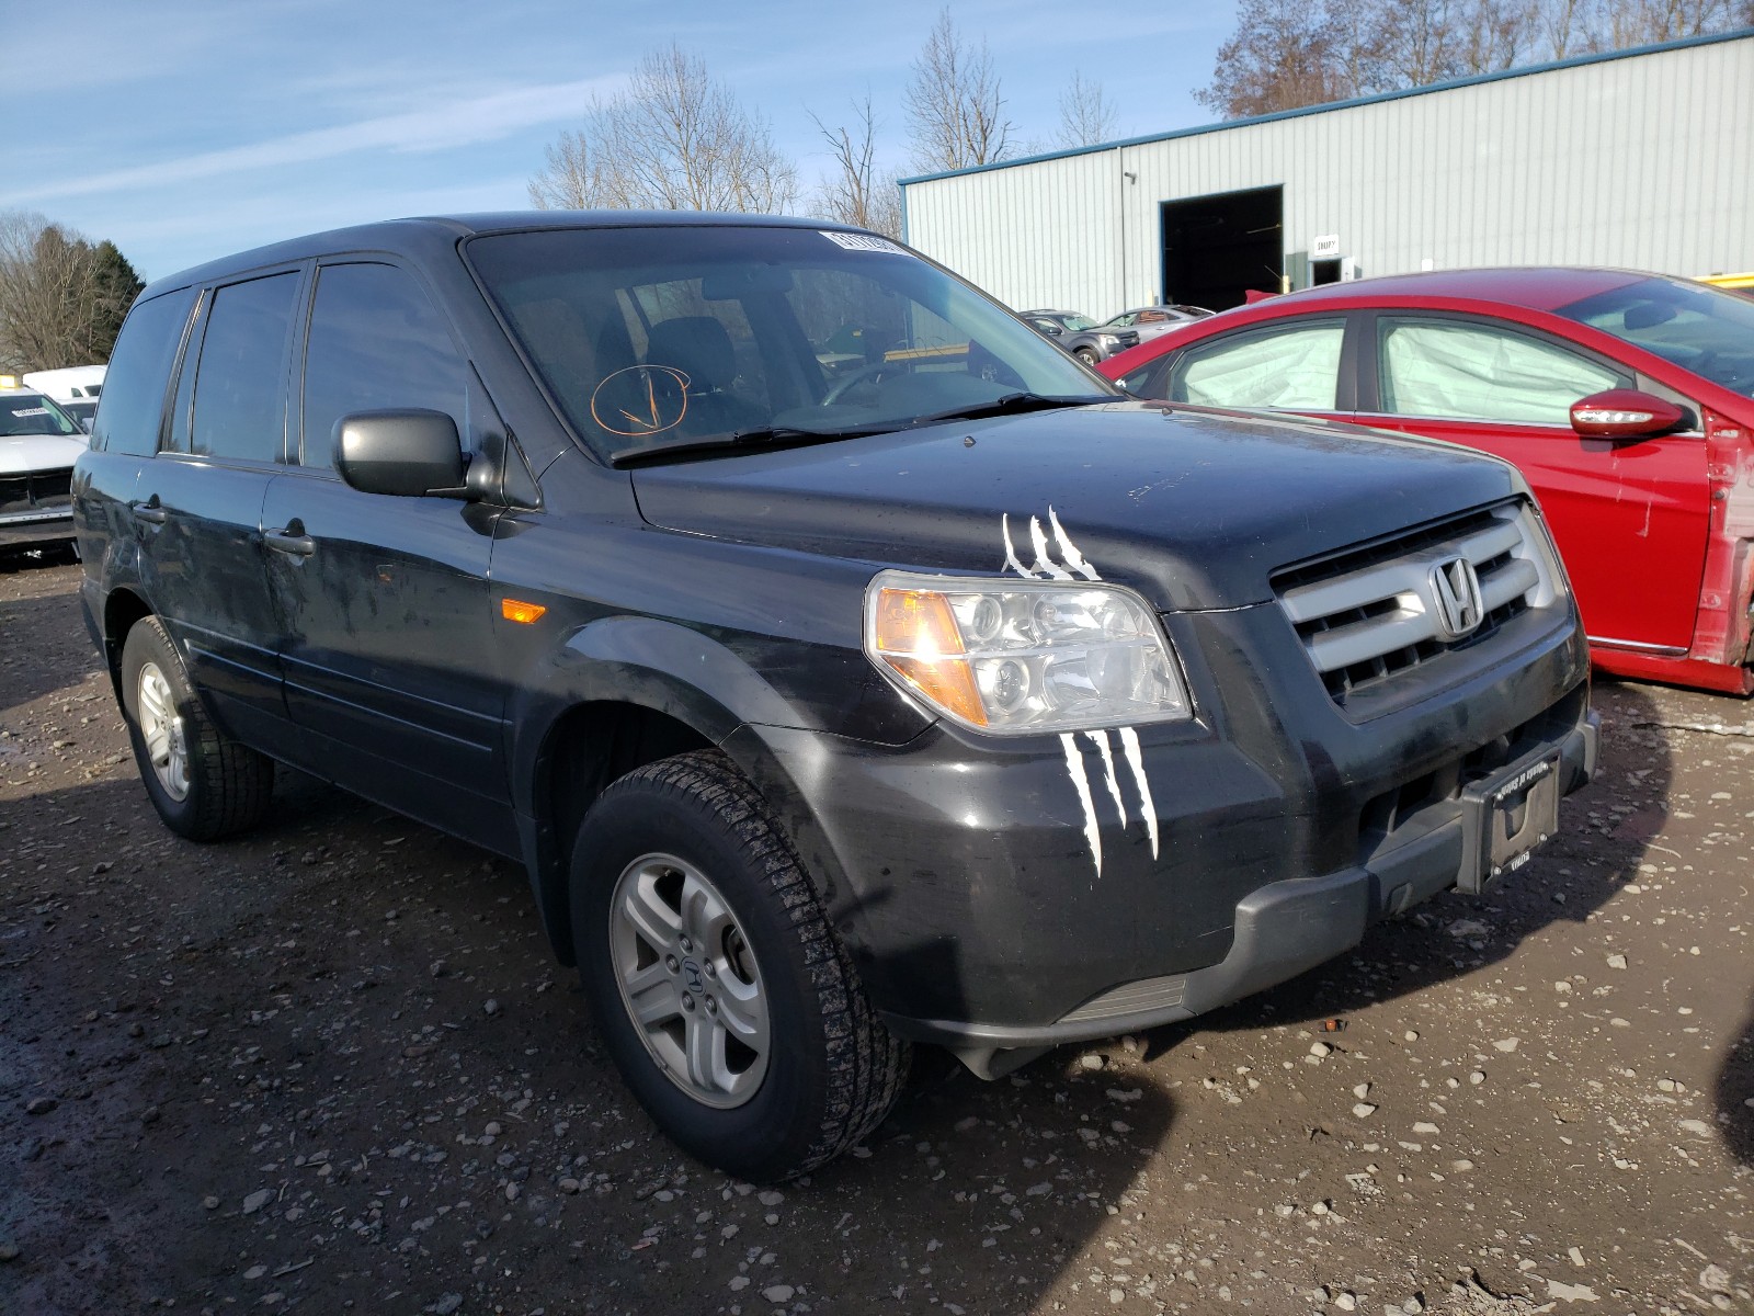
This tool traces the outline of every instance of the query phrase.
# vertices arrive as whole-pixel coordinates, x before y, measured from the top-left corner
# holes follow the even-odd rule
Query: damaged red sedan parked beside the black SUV
[[[1145,398],[1296,411],[1514,461],[1596,667],[1754,693],[1754,304],[1628,270],[1451,270],[1273,297],[1103,361]]]

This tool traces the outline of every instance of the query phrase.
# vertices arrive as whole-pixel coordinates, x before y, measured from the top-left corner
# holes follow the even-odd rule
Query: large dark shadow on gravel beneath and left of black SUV
[[[514,865],[296,774],[216,846],[132,776],[9,821],[5,1311],[1031,1311],[1170,1135],[1151,1084],[926,1056],[772,1195],[656,1134]]]

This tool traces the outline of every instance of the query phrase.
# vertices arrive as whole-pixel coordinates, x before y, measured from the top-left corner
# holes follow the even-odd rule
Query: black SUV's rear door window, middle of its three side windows
[[[189,451],[277,461],[286,446],[286,333],[296,274],[219,288],[195,370]]]

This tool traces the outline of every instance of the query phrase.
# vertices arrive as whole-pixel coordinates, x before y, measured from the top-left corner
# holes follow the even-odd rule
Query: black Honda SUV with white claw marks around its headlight
[[[407,219],[160,279],[74,481],[182,837],[275,763],[521,862],[730,1172],[1515,881],[1594,769],[1505,463],[1116,393],[823,223]]]

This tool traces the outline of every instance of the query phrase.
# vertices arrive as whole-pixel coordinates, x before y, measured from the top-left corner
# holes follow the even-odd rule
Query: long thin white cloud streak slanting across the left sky
[[[40,204],[63,197],[91,197],[135,188],[161,188],[251,168],[275,168],[360,151],[444,151],[507,137],[521,128],[570,119],[584,112],[593,95],[612,91],[623,77],[586,77],[574,82],[498,91],[475,100],[446,100],[405,114],[386,114],[335,128],[274,137],[249,146],[203,151],[153,165],[133,165],[107,174],[49,181],[14,193],[9,204]]]

